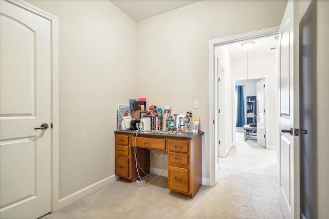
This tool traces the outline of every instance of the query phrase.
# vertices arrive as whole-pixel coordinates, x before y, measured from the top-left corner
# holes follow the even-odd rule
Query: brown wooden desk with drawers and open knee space
[[[202,135],[198,133],[115,131],[115,174],[132,182],[137,176],[134,148],[140,167],[150,173],[150,149],[168,152],[168,188],[193,197],[202,185]],[[138,168],[139,173],[142,173]]]

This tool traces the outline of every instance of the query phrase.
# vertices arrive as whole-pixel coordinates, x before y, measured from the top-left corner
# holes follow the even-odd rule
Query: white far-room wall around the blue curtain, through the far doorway
[[[235,86],[237,85],[244,85],[243,87],[243,103],[244,103],[244,112],[245,112],[245,124],[247,124],[247,96],[257,96],[257,82],[259,82],[260,79],[248,79],[248,80],[241,80],[236,81]],[[234,93],[232,94],[234,95]],[[236,105],[234,108],[233,102],[233,124],[236,121]],[[234,114],[235,113],[235,114]],[[235,116],[234,116],[235,115]]]

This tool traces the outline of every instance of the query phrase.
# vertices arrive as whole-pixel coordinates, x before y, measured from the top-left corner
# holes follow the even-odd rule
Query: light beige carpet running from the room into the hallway
[[[42,218],[283,218],[276,151],[236,136],[220,160],[218,184],[202,186],[192,199],[170,192],[167,177],[142,186],[117,181]]]

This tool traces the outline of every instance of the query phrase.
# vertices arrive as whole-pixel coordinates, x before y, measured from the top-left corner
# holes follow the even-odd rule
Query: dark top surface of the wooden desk
[[[134,136],[136,134],[136,130],[116,130],[114,133],[116,134],[130,134],[132,135],[134,133]],[[197,138],[199,136],[204,135],[205,132],[199,131],[199,132],[189,132],[189,133],[172,133],[172,132],[162,132],[162,131],[138,131],[137,136],[139,137],[165,137],[165,138],[175,138],[175,139],[184,139],[184,140],[193,140],[194,138]]]

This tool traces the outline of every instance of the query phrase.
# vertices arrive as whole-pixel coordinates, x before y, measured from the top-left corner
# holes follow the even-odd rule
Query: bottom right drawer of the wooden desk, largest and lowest
[[[169,189],[189,192],[188,169],[169,166]]]

